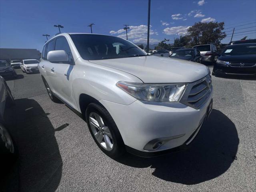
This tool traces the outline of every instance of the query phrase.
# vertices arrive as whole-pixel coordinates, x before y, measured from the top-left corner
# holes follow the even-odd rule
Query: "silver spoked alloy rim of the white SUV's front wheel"
[[[111,132],[104,123],[102,117],[95,113],[91,112],[89,115],[89,123],[92,130],[92,133],[94,134],[94,137],[96,138],[97,142],[105,149],[105,150],[112,150],[113,149],[113,139]]]

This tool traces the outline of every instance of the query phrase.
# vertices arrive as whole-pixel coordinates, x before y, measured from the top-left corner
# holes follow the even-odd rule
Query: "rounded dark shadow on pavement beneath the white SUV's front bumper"
[[[236,158],[238,144],[234,123],[222,112],[212,110],[188,150],[155,158],[126,154],[117,161],[138,168],[151,166],[152,175],[162,180],[192,185],[226,172]]]

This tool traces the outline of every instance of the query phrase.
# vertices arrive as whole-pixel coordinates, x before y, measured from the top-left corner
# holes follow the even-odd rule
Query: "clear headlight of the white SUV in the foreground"
[[[119,81],[116,86],[139,100],[178,102],[187,84],[148,84]]]

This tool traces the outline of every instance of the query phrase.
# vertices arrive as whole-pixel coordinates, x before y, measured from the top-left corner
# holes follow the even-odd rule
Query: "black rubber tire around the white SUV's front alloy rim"
[[[96,138],[92,132],[92,128],[90,127],[90,123],[89,123],[89,115],[91,112],[99,114],[102,117],[104,124],[106,126],[108,126],[110,133],[112,135],[112,141],[113,141],[112,150],[106,150],[96,140]],[[116,126],[116,123],[114,122],[112,116],[109,114],[109,112],[104,107],[102,107],[98,104],[95,104],[95,103],[89,104],[88,107],[86,108],[86,122],[87,122],[88,128],[90,130],[90,133],[92,135],[92,138],[94,139],[94,141],[96,142],[96,144],[98,145],[100,150],[102,150],[102,152],[104,152],[107,156],[109,156],[111,158],[117,158],[117,157],[122,156],[126,152],[125,146],[124,146],[124,141],[122,139],[122,136],[121,136],[117,126]]]

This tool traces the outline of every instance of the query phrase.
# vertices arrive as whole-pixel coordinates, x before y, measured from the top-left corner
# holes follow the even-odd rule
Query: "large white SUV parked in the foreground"
[[[83,117],[111,157],[186,146],[212,109],[208,67],[148,56],[114,36],[58,34],[44,44],[39,70],[50,99]]]

